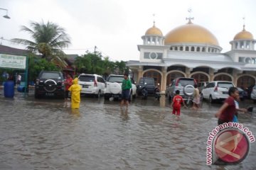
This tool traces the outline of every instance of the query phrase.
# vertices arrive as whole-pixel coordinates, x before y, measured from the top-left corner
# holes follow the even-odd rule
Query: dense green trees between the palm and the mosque
[[[102,57],[100,52],[88,52],[82,57],[75,59],[75,67],[79,73],[100,74],[123,74],[129,71],[125,62],[112,62],[109,57]]]

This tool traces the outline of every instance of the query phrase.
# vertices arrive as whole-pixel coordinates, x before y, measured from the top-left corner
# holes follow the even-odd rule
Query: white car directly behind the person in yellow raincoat
[[[80,74],[78,84],[82,86],[81,94],[92,94],[100,97],[105,91],[105,80],[97,74]]]

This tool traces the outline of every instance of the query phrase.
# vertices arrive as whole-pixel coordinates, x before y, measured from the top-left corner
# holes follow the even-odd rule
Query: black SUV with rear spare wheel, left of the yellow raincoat
[[[65,98],[64,78],[61,72],[40,72],[36,79],[35,98],[40,98],[41,96]]]

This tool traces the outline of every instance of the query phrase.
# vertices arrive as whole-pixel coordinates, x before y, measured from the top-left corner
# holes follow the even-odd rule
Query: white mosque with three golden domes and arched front
[[[201,81],[233,81],[246,89],[256,81],[256,50],[252,33],[243,26],[230,41],[231,50],[221,53],[217,38],[202,26],[188,23],[169,31],[165,36],[155,22],[138,45],[139,61],[129,60],[134,80],[153,77],[161,91],[177,77]]]

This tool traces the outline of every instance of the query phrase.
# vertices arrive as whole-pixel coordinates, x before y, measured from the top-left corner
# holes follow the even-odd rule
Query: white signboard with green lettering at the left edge
[[[0,54],[0,67],[26,69],[26,56]]]

